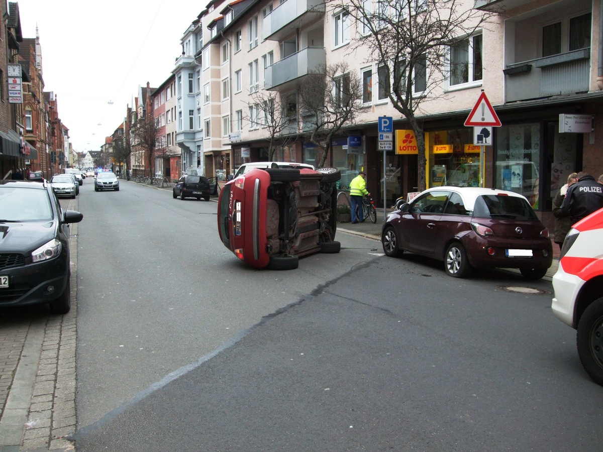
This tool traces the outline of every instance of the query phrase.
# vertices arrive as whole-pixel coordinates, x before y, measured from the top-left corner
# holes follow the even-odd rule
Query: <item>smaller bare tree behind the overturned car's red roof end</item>
[[[247,119],[255,124],[261,124],[267,131],[268,162],[277,160],[274,158],[277,151],[283,146],[291,145],[297,139],[297,123],[292,127],[287,106],[286,97],[276,92],[262,90],[251,95],[248,107],[253,111],[251,115],[253,118]]]

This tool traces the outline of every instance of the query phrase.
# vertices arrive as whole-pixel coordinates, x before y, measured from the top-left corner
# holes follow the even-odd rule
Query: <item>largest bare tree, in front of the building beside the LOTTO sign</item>
[[[461,43],[459,36],[470,36],[483,27],[493,13],[476,10],[466,0],[327,0],[327,4],[349,11],[356,19],[358,34],[350,42],[350,51],[368,49],[371,62],[378,63],[379,79],[387,84],[385,94],[417,139],[418,189],[424,190],[426,149],[417,120],[420,105],[443,95],[435,89],[450,74],[467,71],[466,65],[450,64],[450,49]]]

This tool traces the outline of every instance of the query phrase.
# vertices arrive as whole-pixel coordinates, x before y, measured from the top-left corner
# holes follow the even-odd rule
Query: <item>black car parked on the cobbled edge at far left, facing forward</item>
[[[63,211],[46,181],[0,180],[0,307],[69,312],[69,223],[82,219]]]

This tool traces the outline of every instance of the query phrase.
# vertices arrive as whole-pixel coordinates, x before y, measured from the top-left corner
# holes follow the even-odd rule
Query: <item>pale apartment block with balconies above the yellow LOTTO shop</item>
[[[567,174],[603,172],[603,131],[597,127],[603,100],[599,2],[456,4],[491,16],[450,43],[437,86],[426,90],[437,72],[427,64],[405,75],[412,80],[413,94],[425,97],[416,117],[425,135],[426,184],[511,189],[528,197],[545,224],[552,225],[552,198]],[[412,142],[412,128],[387,96],[391,80],[385,80],[377,57],[358,46],[365,24],[353,20],[346,8],[330,5],[316,0],[216,1],[200,14],[206,168],[230,174],[244,161],[266,160],[260,95],[276,92],[291,110],[298,110],[297,82],[324,65],[347,61],[362,81],[361,111],[359,120],[333,139],[326,165],[352,175],[363,169],[379,202],[392,202],[417,187],[417,148],[402,143]],[[373,8],[377,2],[364,5]],[[476,131],[464,122],[482,92],[502,125],[486,131],[490,136],[481,158]],[[303,112],[296,113],[286,132],[299,133],[299,139],[283,146],[277,159],[316,163],[316,146],[301,134]],[[392,151],[379,151],[380,116],[393,117]],[[592,131],[585,131],[589,119]]]

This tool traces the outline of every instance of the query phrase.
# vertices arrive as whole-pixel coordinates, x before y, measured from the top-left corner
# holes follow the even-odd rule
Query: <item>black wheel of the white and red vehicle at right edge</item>
[[[582,314],[576,345],[584,370],[603,386],[603,298],[590,304]]]

